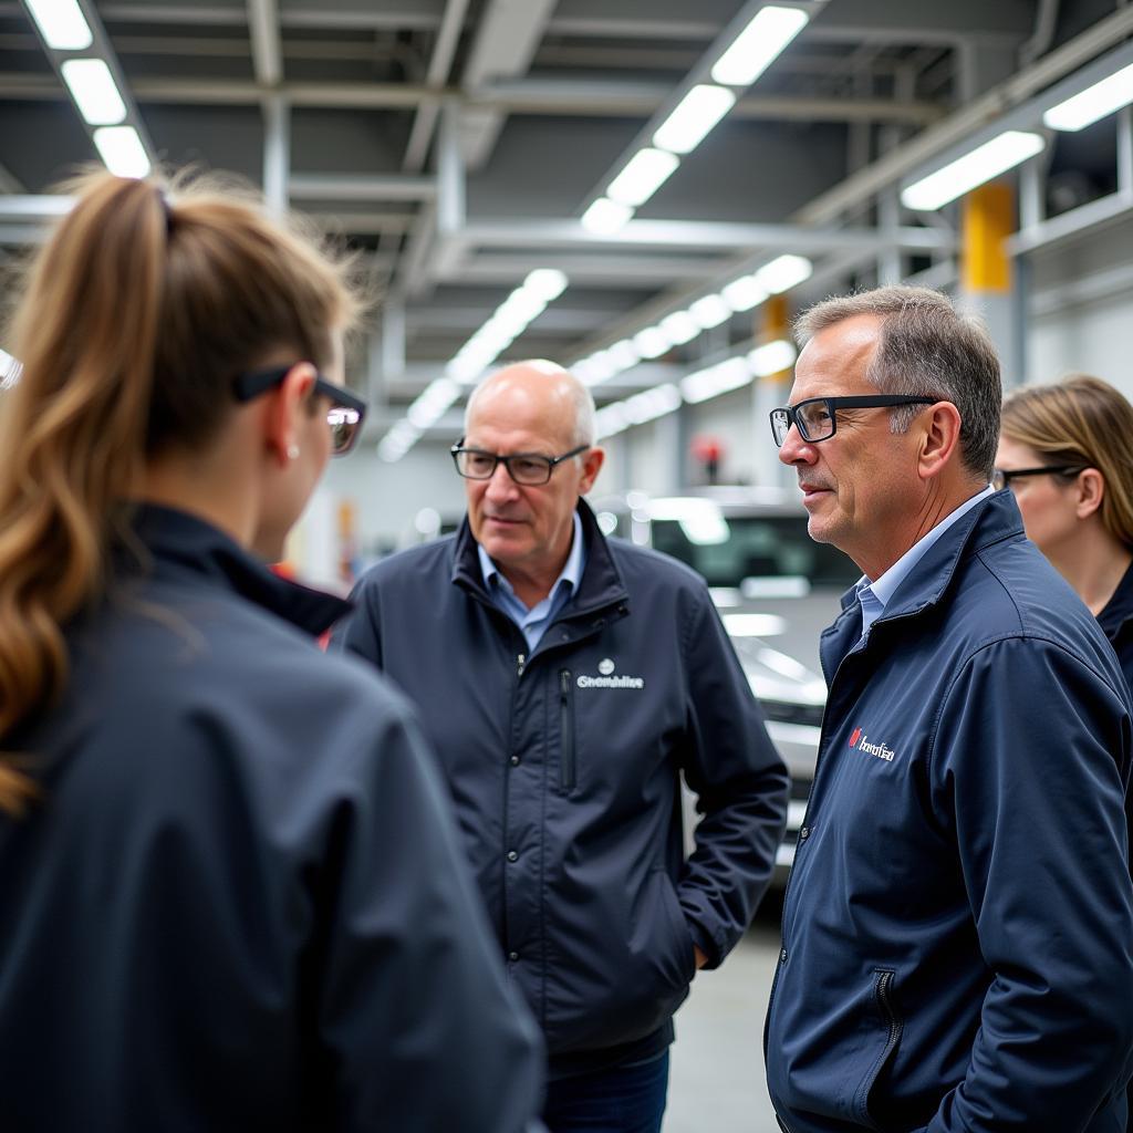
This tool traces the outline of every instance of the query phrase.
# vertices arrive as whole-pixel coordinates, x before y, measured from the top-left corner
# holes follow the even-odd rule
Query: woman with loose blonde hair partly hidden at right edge
[[[1088,374],[1016,390],[1004,401],[995,477],[1133,687],[1133,406]]]

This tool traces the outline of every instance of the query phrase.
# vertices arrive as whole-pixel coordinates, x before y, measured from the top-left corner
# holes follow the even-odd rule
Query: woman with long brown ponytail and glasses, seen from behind
[[[228,189],[71,191],[0,393],[0,1125],[522,1130],[432,759],[264,565],[360,428],[346,269]]]

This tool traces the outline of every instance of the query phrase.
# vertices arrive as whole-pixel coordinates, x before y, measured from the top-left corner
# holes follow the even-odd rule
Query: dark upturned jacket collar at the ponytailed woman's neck
[[[248,554],[235,539],[188,512],[140,504],[131,518],[134,533],[152,559],[138,562],[120,546],[116,559],[126,574],[157,578],[196,578],[240,595],[241,598],[318,636],[350,611],[350,603],[281,578]]]

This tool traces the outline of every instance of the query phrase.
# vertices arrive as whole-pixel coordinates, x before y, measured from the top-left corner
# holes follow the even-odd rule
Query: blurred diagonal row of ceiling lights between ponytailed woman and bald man
[[[391,426],[377,445],[377,454],[393,463],[400,460],[427,428],[435,425],[493,361],[566,290],[566,275],[554,267],[537,267],[492,313],[484,325],[460,348],[444,368]]]

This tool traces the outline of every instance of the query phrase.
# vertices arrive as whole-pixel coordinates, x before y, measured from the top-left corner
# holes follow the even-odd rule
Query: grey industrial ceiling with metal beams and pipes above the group
[[[812,271],[792,304],[883,279],[951,283],[955,210],[904,207],[902,182],[1133,35],[1133,6],[1111,0],[782,0],[801,31],[603,230],[581,218],[712,85],[761,0],[77,2],[154,161],[236,171],[359,250],[382,304],[350,380],[375,402],[375,441],[431,387],[436,411],[417,414],[410,441],[451,436],[489,356],[608,363],[622,343],[617,365],[590,367],[603,404],[758,342],[758,305],[738,304],[655,355],[624,346],[782,255]],[[9,261],[58,212],[52,185],[99,157],[60,77],[66,52],[29,8],[0,2]],[[1125,134],[1114,119],[1047,131],[1033,222],[1130,188],[1123,113]],[[531,272],[552,284],[513,341],[453,369]]]

